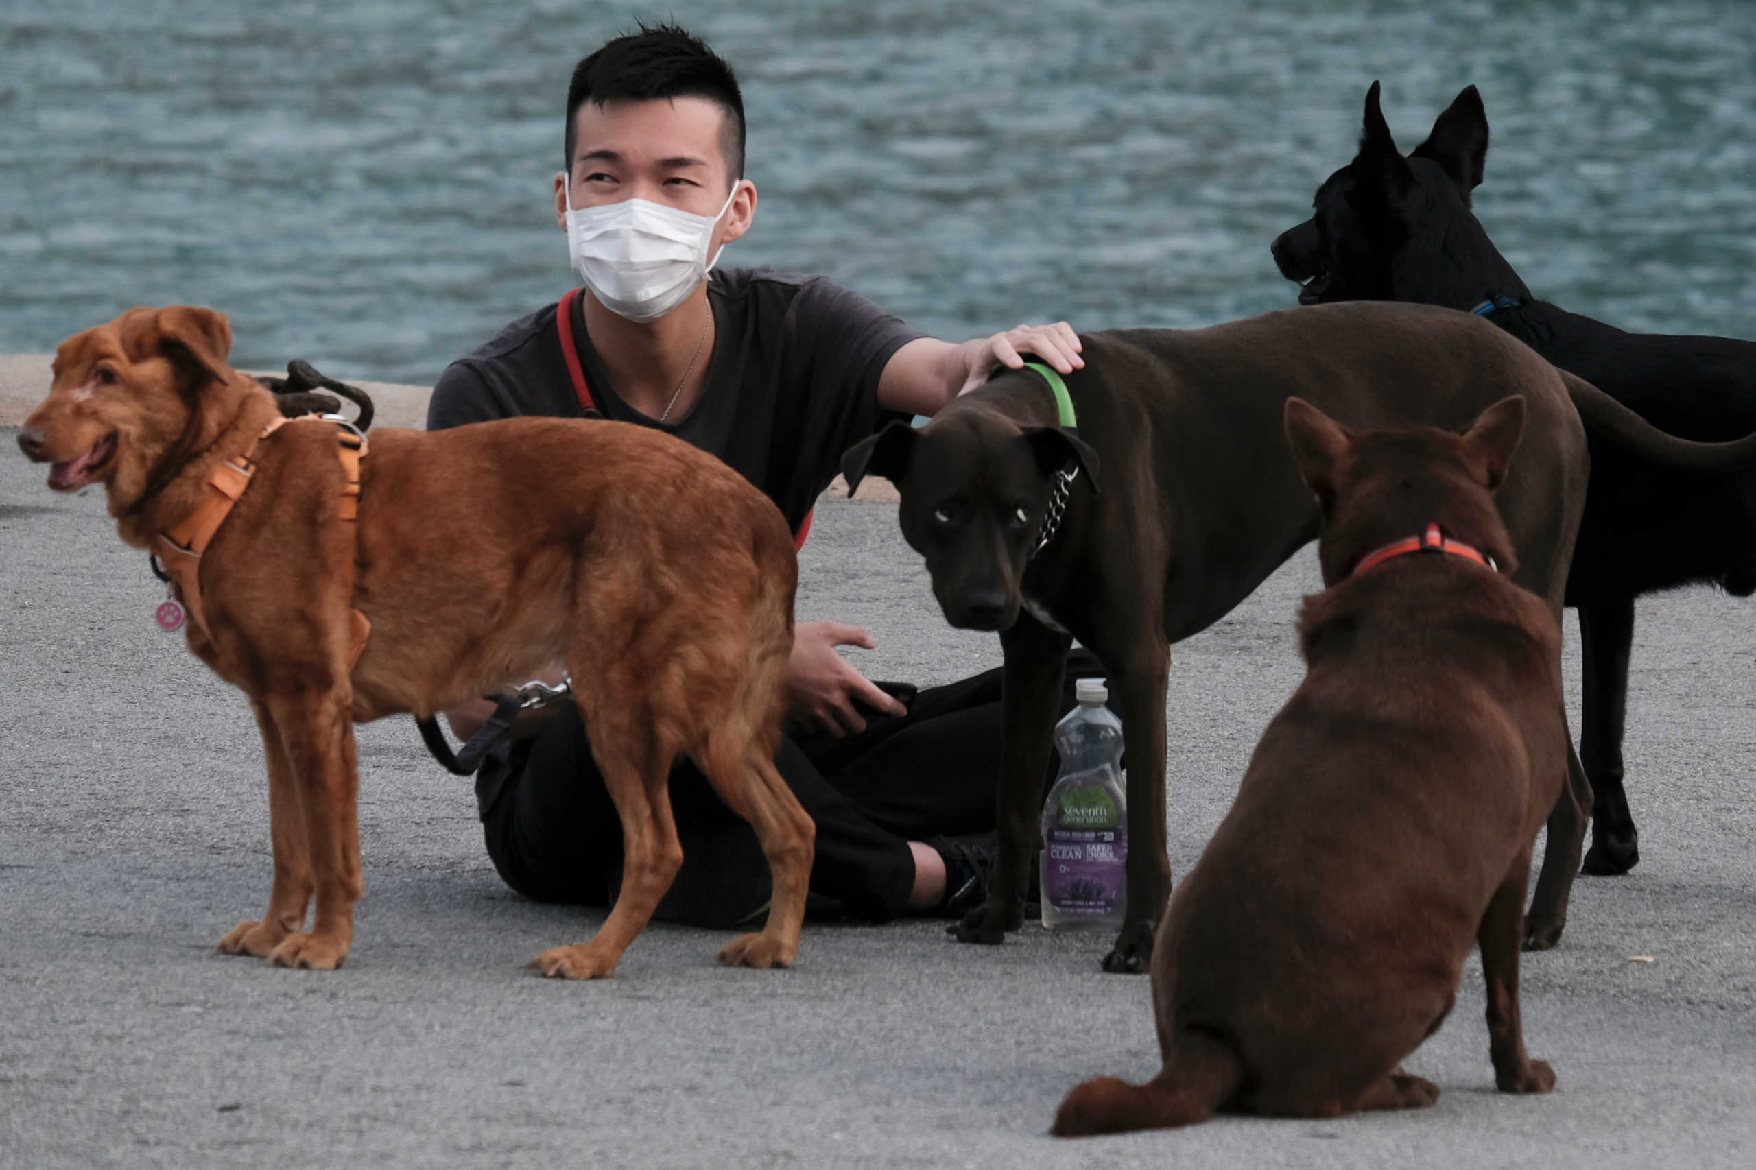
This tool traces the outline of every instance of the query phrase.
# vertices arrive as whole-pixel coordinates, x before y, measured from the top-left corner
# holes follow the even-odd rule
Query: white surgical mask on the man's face
[[[630,321],[655,321],[708,279],[720,260],[708,244],[720,216],[732,206],[738,183],[718,214],[697,216],[646,199],[623,199],[601,207],[572,207],[567,176],[567,258],[599,302]]]

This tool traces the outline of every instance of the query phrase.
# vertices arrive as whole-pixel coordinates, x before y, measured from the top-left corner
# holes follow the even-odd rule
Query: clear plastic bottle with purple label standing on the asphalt
[[[1043,803],[1043,926],[1120,928],[1127,908],[1127,794],[1122,720],[1103,678],[1075,685],[1080,704],[1055,726],[1061,775]]]

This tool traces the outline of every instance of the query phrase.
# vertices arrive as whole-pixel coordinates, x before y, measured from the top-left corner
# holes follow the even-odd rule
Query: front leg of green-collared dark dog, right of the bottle
[[[1157,631],[1140,632],[1119,650],[1094,652],[1110,669],[1122,741],[1127,750],[1127,914],[1103,970],[1143,975],[1152,964],[1152,936],[1171,896],[1171,861],[1164,831],[1164,694],[1171,648]]]

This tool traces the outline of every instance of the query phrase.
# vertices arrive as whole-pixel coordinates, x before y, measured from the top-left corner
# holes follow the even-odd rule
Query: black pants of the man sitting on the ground
[[[1073,682],[1103,675],[1085,650],[1068,657],[1061,710]],[[994,827],[1001,759],[1001,673],[992,669],[922,690],[908,715],[869,717],[846,736],[787,738],[776,766],[817,824],[811,892],[882,922],[908,906],[911,840]],[[592,759],[578,708],[483,764],[476,780],[488,856],[500,877],[536,901],[608,906],[622,884],[622,822]],[[767,859],[755,831],[713,792],[694,762],[671,769],[671,810],[683,868],[657,917],[729,928],[769,899]]]

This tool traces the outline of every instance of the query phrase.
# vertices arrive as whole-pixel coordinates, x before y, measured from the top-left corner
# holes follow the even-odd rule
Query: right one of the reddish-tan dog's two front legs
[[[365,892],[351,703],[346,689],[311,689],[270,694],[265,704],[286,752],[316,889],[311,933],[283,938],[269,952],[269,963],[328,971],[348,957],[353,906]]]

